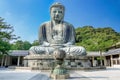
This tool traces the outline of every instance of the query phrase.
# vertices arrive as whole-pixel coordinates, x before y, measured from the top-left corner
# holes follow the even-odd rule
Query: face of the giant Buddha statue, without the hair
[[[64,11],[60,7],[51,8],[51,18],[55,21],[61,21],[64,18]]]

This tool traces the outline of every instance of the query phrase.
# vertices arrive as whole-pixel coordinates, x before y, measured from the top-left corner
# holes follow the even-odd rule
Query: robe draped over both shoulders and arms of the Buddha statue
[[[43,41],[46,41],[50,44],[55,44],[55,40],[53,39],[53,24],[52,22],[46,22],[40,27],[39,32],[39,42],[43,44]],[[63,42],[58,44],[71,44],[73,45],[75,43],[75,30],[74,27],[67,23],[62,22],[62,24],[59,26],[62,27],[62,37]]]

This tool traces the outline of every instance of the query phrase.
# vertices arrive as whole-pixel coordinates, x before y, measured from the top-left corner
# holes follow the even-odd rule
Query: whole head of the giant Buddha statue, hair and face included
[[[53,3],[50,7],[51,19],[54,21],[62,21],[64,18],[65,7],[61,3]]]

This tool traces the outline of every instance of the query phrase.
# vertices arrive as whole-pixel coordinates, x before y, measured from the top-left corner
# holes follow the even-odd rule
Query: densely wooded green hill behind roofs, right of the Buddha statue
[[[119,41],[120,33],[111,27],[84,26],[76,29],[76,45],[84,46],[88,51],[106,50]]]

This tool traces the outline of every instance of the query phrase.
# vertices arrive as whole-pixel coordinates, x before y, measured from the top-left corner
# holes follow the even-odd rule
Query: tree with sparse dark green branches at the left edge
[[[0,53],[6,54],[10,50],[10,41],[17,39],[16,35],[13,34],[13,27],[0,17]]]

